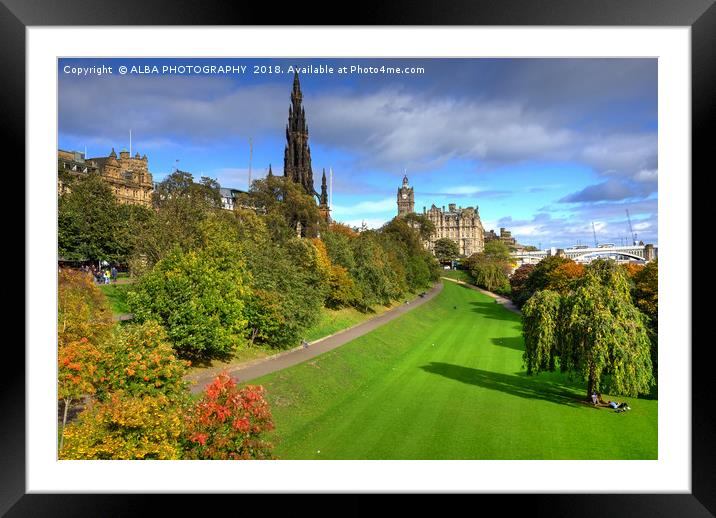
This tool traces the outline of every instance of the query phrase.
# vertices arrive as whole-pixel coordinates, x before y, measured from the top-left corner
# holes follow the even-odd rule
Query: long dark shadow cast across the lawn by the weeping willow
[[[497,390],[511,396],[539,399],[559,405],[576,406],[579,404],[577,396],[568,392],[566,387],[544,379],[510,376],[442,362],[430,362],[429,365],[420,368],[432,374],[489,390]]]

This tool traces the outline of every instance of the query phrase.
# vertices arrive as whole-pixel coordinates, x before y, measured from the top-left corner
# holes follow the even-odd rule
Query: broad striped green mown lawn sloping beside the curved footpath
[[[267,389],[279,458],[657,458],[656,400],[627,398],[632,410],[617,414],[581,403],[582,385],[559,373],[527,377],[520,317],[444,285],[379,329],[251,382]]]

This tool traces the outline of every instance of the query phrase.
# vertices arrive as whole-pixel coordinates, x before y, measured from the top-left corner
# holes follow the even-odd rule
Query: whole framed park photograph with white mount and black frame
[[[103,3],[0,6],[6,145],[25,149],[13,160],[26,178],[28,301],[25,371],[8,372],[5,384],[15,396],[5,399],[0,441],[3,513],[127,513],[140,505],[138,493],[517,493],[529,494],[527,507],[558,516],[575,506],[585,516],[716,512],[711,376],[706,348],[692,345],[691,288],[692,171],[705,168],[714,124],[713,2],[381,5],[376,19],[366,10],[350,26],[315,25],[308,8],[293,20],[269,6],[247,18],[218,4]],[[273,25],[284,23],[295,25]],[[86,177],[102,180],[77,183]],[[271,205],[279,191],[290,210]],[[114,201],[96,210],[83,201],[97,196]],[[181,196],[189,201],[176,205]],[[204,210],[197,203],[221,216],[194,223],[191,215]],[[90,211],[98,223],[82,230]],[[238,252],[226,244],[232,232],[244,236]],[[424,256],[410,255],[408,234]],[[264,235],[283,244],[262,248]],[[352,259],[339,259],[336,251],[354,239],[365,244],[350,244]],[[92,243],[77,246],[82,240]],[[187,245],[185,254],[172,249],[175,241],[214,248],[202,255]],[[304,253],[319,258],[310,259],[316,272],[321,257],[328,264],[320,297],[304,293],[324,289],[320,279],[301,280],[313,275],[302,270]],[[353,254],[384,264],[380,275],[400,288],[373,296],[378,288],[358,279],[378,274],[349,266]],[[547,317],[533,316],[536,303],[525,309],[529,295],[520,300],[517,290],[526,288],[509,280],[517,271],[528,276],[544,258],[573,265],[560,270],[564,278],[550,273],[557,280],[549,293],[576,321],[587,311],[579,300],[597,293],[577,278],[607,275],[589,273],[602,259],[636,276],[657,257],[661,309],[653,293],[653,306],[630,301],[618,310],[622,320],[609,325],[625,331],[602,359],[580,357],[577,346],[567,354],[572,331],[554,331],[564,332],[563,345],[549,348],[544,334],[524,330],[528,319]],[[102,432],[77,431],[68,403],[58,424],[58,399],[78,397],[58,389],[58,278],[66,266],[94,274],[88,282],[121,321],[111,325],[123,355],[146,341],[154,358],[171,343],[161,376],[143,378],[152,391],[164,390],[174,362],[198,364],[187,375],[193,399],[181,403],[196,405],[186,414],[195,428],[172,443],[184,457],[166,441],[147,445],[151,439],[142,443],[145,462],[128,460],[142,457],[117,443],[114,453],[92,456],[81,434]],[[120,289],[125,269],[144,272],[129,297]],[[182,269],[191,278],[184,284]],[[150,274],[156,279],[146,281]],[[201,275],[231,287],[189,304],[177,293],[201,284]],[[272,275],[281,282],[267,281]],[[168,278],[172,289],[157,288]],[[289,293],[292,282],[306,283],[296,288],[304,291]],[[477,289],[465,290],[470,283]],[[607,292],[599,293],[597,302]],[[622,304],[614,297],[610,307]],[[324,305],[346,308],[345,321],[321,327]],[[210,306],[218,313],[202,313]],[[655,314],[647,318],[648,307]],[[362,309],[349,318],[348,308]],[[657,317],[660,334],[648,327]],[[301,330],[277,330],[279,320]],[[224,327],[212,329],[217,321]],[[239,336],[254,349],[226,360]],[[70,370],[89,354],[79,337],[66,339],[75,348]],[[355,344],[373,356],[328,353]],[[143,353],[100,368],[104,384],[91,388],[105,391],[92,407],[96,423],[102,412],[123,422],[123,408],[166,396],[141,387],[130,394],[127,376],[146,369]],[[547,372],[555,362],[577,381]],[[298,364],[295,382],[280,375]],[[67,379],[84,383],[76,370]],[[222,370],[266,389],[284,427],[268,435],[278,443],[273,454],[257,454],[258,440],[243,443],[244,457],[207,453],[207,444],[219,444],[210,419],[191,416],[211,390],[220,392]],[[229,380],[221,390],[233,390]],[[626,397],[630,406],[625,393],[645,397]],[[260,412],[234,428],[253,433]],[[172,433],[167,425],[146,437]],[[176,458],[186,460],[159,460]],[[238,458],[263,460],[227,460]]]

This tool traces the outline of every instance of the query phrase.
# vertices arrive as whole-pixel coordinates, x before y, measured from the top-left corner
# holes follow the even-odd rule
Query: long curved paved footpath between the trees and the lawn
[[[443,289],[442,283],[435,285],[428,291],[425,297],[415,298],[408,303],[402,304],[396,308],[390,309],[385,313],[371,318],[361,324],[357,324],[343,331],[339,331],[332,335],[320,338],[315,342],[309,343],[308,347],[296,347],[268,358],[254,360],[248,363],[240,363],[229,365],[221,368],[209,368],[188,375],[185,379],[189,381],[190,390],[193,394],[201,392],[206,385],[211,383],[219,372],[227,371],[235,380],[246,382],[255,378],[259,378],[265,374],[270,374],[286,367],[291,367],[298,363],[310,360],[311,358],[323,354],[326,351],[340,347],[374,329],[390,322],[393,319],[407,313],[408,311],[425,304],[427,301],[435,297]]]

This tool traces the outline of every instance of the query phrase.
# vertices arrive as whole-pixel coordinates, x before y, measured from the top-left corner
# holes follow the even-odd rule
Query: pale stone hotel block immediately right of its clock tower
[[[423,207],[423,214],[435,225],[435,233],[425,247],[433,251],[435,241],[448,238],[457,243],[460,255],[470,257],[485,249],[485,229],[480,221],[477,207],[457,207],[454,203],[438,208],[433,204],[429,210]]]

